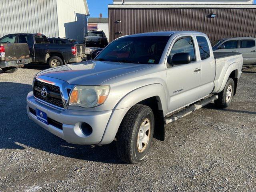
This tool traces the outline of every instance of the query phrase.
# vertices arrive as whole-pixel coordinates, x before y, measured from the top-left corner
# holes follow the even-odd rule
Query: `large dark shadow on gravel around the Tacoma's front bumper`
[[[116,142],[103,146],[74,145],[32,122],[26,113],[28,84],[0,82],[0,149],[26,146],[70,158],[123,164],[116,154]]]

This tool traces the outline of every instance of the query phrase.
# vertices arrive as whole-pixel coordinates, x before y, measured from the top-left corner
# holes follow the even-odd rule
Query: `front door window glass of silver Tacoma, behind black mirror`
[[[170,52],[171,57],[174,56],[176,53],[189,53],[191,55],[192,61],[196,60],[195,56],[195,48],[194,43],[191,37],[186,37],[177,40]]]

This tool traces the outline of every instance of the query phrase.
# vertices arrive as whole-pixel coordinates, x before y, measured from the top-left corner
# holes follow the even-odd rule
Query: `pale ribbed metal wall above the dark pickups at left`
[[[0,37],[42,33],[58,37],[56,0],[0,0]]]

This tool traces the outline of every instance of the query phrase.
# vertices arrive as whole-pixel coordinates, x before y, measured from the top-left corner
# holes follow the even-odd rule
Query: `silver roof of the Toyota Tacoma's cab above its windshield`
[[[203,34],[197,31],[159,31],[159,32],[148,32],[148,33],[138,33],[134,35],[126,35],[122,37],[142,37],[142,36],[171,36],[172,34]]]

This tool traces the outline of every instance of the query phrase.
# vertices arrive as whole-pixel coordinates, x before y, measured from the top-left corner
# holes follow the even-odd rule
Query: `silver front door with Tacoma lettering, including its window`
[[[170,95],[168,112],[172,112],[200,98],[200,63],[197,62],[195,37],[188,34],[174,38],[168,56],[186,52],[192,57],[189,64],[172,65],[166,68],[167,86]]]

